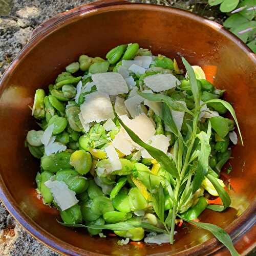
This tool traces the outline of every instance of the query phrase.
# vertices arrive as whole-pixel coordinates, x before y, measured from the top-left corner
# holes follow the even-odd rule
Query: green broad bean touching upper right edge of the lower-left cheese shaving
[[[81,177],[75,170],[59,170],[55,178],[65,182],[69,189],[77,194],[84,192],[89,186],[89,181]]]

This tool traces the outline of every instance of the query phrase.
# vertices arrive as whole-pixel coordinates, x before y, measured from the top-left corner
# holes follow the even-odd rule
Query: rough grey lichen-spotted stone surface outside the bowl
[[[0,0],[0,78],[10,61],[26,44],[33,29],[59,12],[90,1],[84,0]],[[207,0],[131,0],[187,9],[217,22],[223,16]],[[215,16],[215,18],[213,17]],[[0,202],[0,255],[58,255],[30,236],[8,214]]]

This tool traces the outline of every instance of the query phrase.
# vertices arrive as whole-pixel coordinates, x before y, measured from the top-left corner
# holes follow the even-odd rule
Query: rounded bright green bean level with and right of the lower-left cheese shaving
[[[91,210],[95,214],[103,215],[107,211],[113,211],[114,207],[108,197],[101,196],[93,199],[91,203]]]

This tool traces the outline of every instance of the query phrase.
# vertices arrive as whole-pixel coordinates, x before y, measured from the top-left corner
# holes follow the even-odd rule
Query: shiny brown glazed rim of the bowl
[[[179,14],[182,16],[186,16],[187,18],[194,19],[199,23],[203,23],[208,26],[210,29],[218,29],[219,33],[222,33],[228,39],[233,41],[238,47],[243,50],[255,64],[256,57],[255,54],[242,42],[238,37],[233,35],[231,32],[226,30],[223,26],[208,20],[204,17],[201,17],[197,14],[190,13],[188,11],[166,7],[166,6],[157,6],[152,4],[138,4],[138,3],[129,3],[126,1],[98,1],[91,4],[82,5],[76,7],[70,11],[65,13],[60,13],[57,16],[47,20],[46,22],[39,25],[38,28],[35,29],[34,33],[32,33],[32,37],[28,41],[27,45],[17,54],[17,56],[10,63],[9,67],[4,72],[1,80],[0,80],[0,96],[5,88],[4,84],[6,84],[11,76],[12,71],[18,65],[18,62],[25,57],[38,42],[47,37],[49,34],[53,33],[57,29],[67,26],[70,23],[75,22],[76,20],[84,17],[91,16],[94,14],[99,14],[108,11],[115,11],[121,9],[141,9],[144,10],[154,10],[154,11],[165,11],[169,13]],[[96,12],[97,10],[97,12]],[[100,11],[99,11],[100,10]],[[90,252],[85,249],[78,248],[74,245],[71,245],[61,239],[55,237],[53,234],[49,233],[47,230],[41,228],[37,223],[35,223],[25,212],[23,212],[18,204],[15,202],[14,198],[10,194],[10,191],[7,189],[2,175],[0,174],[0,199],[2,200],[4,206],[10,212],[12,217],[22,225],[32,237],[39,240],[42,244],[47,247],[58,251],[61,254],[69,254],[69,255],[102,255],[95,252]],[[248,218],[252,216],[256,210],[256,200],[252,202],[252,204],[243,212],[241,216],[239,216],[236,220],[229,224],[229,226],[225,229],[229,234],[233,243],[238,242],[242,236],[251,229],[251,227],[256,223],[256,217]],[[240,231],[236,230],[236,226],[240,224]],[[204,243],[193,246],[189,249],[186,249],[181,252],[181,254],[208,254],[212,252],[217,252],[223,248],[223,245],[217,241],[216,238],[211,238]]]

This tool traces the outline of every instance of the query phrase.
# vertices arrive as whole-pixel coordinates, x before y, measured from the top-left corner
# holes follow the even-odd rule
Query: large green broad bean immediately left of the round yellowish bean
[[[51,173],[57,173],[58,170],[71,169],[70,156],[71,153],[67,151],[44,156],[41,158],[41,167]]]

